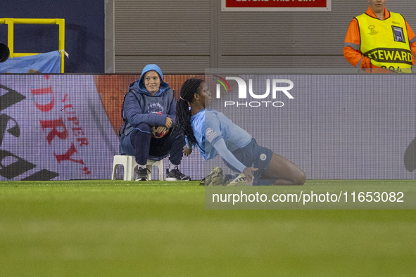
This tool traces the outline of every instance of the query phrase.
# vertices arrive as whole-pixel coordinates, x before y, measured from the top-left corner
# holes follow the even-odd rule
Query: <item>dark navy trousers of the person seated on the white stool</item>
[[[134,157],[139,165],[146,165],[147,160],[161,160],[169,155],[173,165],[179,165],[182,160],[182,149],[185,145],[183,135],[172,136],[172,129],[160,139],[151,136],[149,124],[141,123],[132,131],[130,141],[134,148]]]

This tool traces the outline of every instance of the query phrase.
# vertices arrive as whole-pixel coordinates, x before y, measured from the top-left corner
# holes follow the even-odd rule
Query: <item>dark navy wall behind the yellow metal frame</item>
[[[103,0],[5,0],[0,18],[64,18],[65,73],[104,72]],[[8,3],[7,3],[8,2]],[[42,3],[42,4],[39,4]],[[0,42],[7,44],[7,25],[0,25]],[[15,25],[14,51],[58,50],[58,25]]]

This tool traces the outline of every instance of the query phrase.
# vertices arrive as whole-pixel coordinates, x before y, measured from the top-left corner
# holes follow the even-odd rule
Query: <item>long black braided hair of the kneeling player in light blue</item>
[[[176,127],[177,130],[185,134],[189,143],[195,144],[196,139],[194,130],[191,126],[191,110],[189,110],[188,103],[194,99],[194,94],[198,93],[199,86],[203,79],[191,78],[182,84],[180,99],[176,105]]]

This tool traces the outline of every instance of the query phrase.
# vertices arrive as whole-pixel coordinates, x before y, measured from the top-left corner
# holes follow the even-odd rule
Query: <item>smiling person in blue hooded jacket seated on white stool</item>
[[[169,155],[167,181],[189,181],[178,165],[185,145],[183,135],[173,134],[176,100],[168,83],[163,81],[158,65],[146,65],[140,78],[130,84],[122,105],[123,124],[120,129],[120,154],[134,155],[137,181],[147,181],[146,162]]]

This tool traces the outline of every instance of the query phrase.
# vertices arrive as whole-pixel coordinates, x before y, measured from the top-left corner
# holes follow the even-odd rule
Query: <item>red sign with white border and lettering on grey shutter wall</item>
[[[331,0],[222,0],[222,11],[331,11]]]

